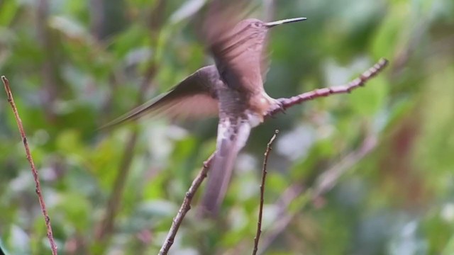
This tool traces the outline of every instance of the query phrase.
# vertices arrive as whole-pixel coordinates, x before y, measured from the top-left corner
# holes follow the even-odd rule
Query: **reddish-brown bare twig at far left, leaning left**
[[[36,188],[35,192],[38,195],[38,200],[40,201],[40,205],[41,205],[41,211],[43,212],[43,215],[44,215],[45,226],[48,230],[48,239],[49,239],[50,249],[52,250],[52,255],[56,255],[57,254],[57,244],[55,244],[54,237],[52,234],[52,226],[50,225],[50,217],[48,215],[48,210],[45,208],[44,198],[43,198],[43,194],[41,192],[40,179],[38,176],[38,171],[35,168],[35,163],[33,163],[33,158],[31,157],[30,148],[28,147],[26,132],[23,130],[22,120],[19,117],[19,113],[16,108],[16,103],[14,103],[13,94],[11,93],[11,88],[9,87],[9,81],[4,76],[1,77],[1,80],[3,81],[3,84],[5,86],[6,95],[8,96],[8,102],[11,104],[11,108],[13,108],[14,118],[16,118],[16,123],[17,123],[18,129],[19,129],[19,132],[21,133],[23,147],[25,147],[25,149],[26,149],[27,160],[31,166],[33,179],[35,179],[35,188]]]

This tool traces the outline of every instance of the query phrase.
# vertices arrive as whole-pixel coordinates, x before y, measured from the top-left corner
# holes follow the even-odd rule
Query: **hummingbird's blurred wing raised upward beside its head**
[[[261,21],[256,19],[243,20],[249,1],[228,1],[225,6],[226,3],[211,4],[203,26],[204,39],[223,81],[233,89],[250,86],[248,90],[255,90],[256,84],[244,77],[260,79],[267,70],[267,65],[262,64],[266,63],[262,56],[266,28],[257,28],[255,25]]]

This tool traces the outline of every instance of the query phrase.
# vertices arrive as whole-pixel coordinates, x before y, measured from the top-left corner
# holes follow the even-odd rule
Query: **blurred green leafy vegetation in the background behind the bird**
[[[257,18],[308,18],[272,30],[270,96],[343,84],[380,57],[391,64],[363,89],[255,128],[221,220],[191,210],[172,254],[250,253],[262,153],[277,128],[266,254],[454,254],[454,1],[254,3]],[[11,82],[60,254],[157,253],[214,152],[216,119],[96,128],[211,63],[194,26],[202,4],[0,1],[0,74]],[[49,254],[33,176],[0,98],[0,244],[9,254]],[[327,170],[342,174],[318,194]]]

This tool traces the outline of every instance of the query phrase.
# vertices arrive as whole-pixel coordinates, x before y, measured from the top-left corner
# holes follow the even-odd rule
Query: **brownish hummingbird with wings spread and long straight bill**
[[[173,118],[218,115],[216,153],[201,199],[203,215],[218,212],[236,157],[245,146],[250,130],[263,122],[271,108],[280,106],[279,101],[268,96],[263,88],[268,31],[282,24],[306,20],[289,18],[264,22],[248,18],[230,26],[223,21],[228,18],[226,12],[218,14],[209,16],[204,24],[205,42],[215,64],[201,67],[167,94],[108,124],[117,125],[148,113],[163,113]]]

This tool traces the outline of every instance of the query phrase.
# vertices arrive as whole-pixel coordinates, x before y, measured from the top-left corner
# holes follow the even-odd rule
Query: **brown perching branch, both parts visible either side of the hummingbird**
[[[324,96],[330,96],[333,94],[345,94],[345,93],[350,93],[350,91],[353,91],[354,89],[359,88],[360,86],[364,86],[364,84],[375,77],[377,74],[382,72],[384,67],[386,67],[388,64],[388,60],[385,60],[384,58],[380,59],[376,64],[374,64],[373,67],[370,67],[366,72],[362,73],[360,77],[354,79],[353,81],[350,81],[348,84],[341,85],[341,86],[332,86],[329,88],[323,88],[323,89],[315,89],[314,91],[309,91],[303,94],[299,94],[298,96],[292,96],[291,98],[279,98],[279,102],[281,103],[280,106],[275,106],[275,108],[272,108],[270,111],[268,111],[267,115],[265,117],[271,117],[272,115],[275,115],[276,113],[279,113],[283,110],[286,110],[292,106],[295,106],[299,103],[302,103],[304,101],[309,101],[315,98],[319,97],[324,97]],[[189,191],[186,193],[186,196],[183,200],[183,204],[181,208],[179,209],[177,216],[174,218],[172,222],[172,227],[170,227],[170,231],[167,234],[167,238],[165,239],[164,244],[162,244],[162,248],[160,249],[160,255],[162,254],[167,254],[167,252],[170,249],[170,246],[173,244],[173,240],[175,239],[175,235],[177,234],[177,231],[179,229],[179,225],[181,224],[184,215],[186,215],[186,212],[189,211],[190,209],[190,203],[192,200],[192,197],[196,193],[197,188],[199,188],[201,182],[204,180],[206,177],[206,173],[209,171],[209,164],[211,163],[211,159],[213,159],[213,154],[209,159],[206,160],[204,167],[202,168],[201,172],[199,175],[197,175],[196,179],[192,182],[192,185],[189,187]],[[316,190],[317,191],[317,190]],[[326,190],[324,190],[326,191]]]

